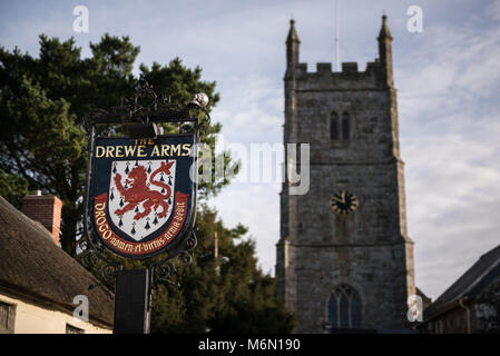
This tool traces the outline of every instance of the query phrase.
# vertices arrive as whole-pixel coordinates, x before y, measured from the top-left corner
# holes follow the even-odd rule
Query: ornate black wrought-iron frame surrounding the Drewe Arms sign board
[[[196,221],[197,206],[197,144],[200,137],[206,132],[210,123],[210,117],[206,110],[206,96],[195,95],[192,100],[184,106],[173,105],[167,97],[159,98],[153,87],[147,82],[137,88],[135,97],[126,99],[125,103],[112,108],[110,111],[97,109],[89,112],[81,122],[81,127],[87,135],[87,174],[84,196],[84,235],[79,240],[79,249],[82,251],[80,260],[87,268],[94,268],[100,271],[105,280],[114,279],[118,271],[122,270],[121,259],[140,259],[149,260],[149,285],[154,288],[158,281],[167,281],[177,285],[171,277],[178,273],[182,266],[189,266],[193,257],[192,251],[197,246],[197,238],[194,230]],[[143,105],[144,99],[147,105]],[[205,99],[205,100],[204,100]],[[205,101],[205,102],[204,102]],[[203,118],[198,118],[193,112],[203,113]],[[157,122],[178,123],[179,134],[158,135]],[[193,138],[193,196],[189,207],[188,221],[184,226],[183,234],[176,236],[175,240],[169,243],[165,248],[154,254],[145,254],[140,257],[120,255],[102,244],[96,235],[96,226],[90,218],[92,201],[91,194],[91,172],[95,166],[95,148],[98,139],[110,138],[110,134],[117,131],[117,128],[127,127],[129,129],[128,137],[137,139],[161,139],[164,137],[192,137]],[[140,130],[134,132],[135,128]],[[145,130],[146,128],[146,130]],[[137,134],[138,132],[138,134]],[[145,136],[145,132],[149,136]],[[116,258],[110,258],[107,251],[111,251]]]

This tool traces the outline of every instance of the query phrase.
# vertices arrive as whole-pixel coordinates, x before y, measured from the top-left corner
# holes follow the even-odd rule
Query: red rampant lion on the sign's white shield
[[[149,177],[149,184],[161,187],[166,189],[165,194],[161,194],[157,190],[150,190],[147,187],[147,172],[146,168],[143,166],[135,167],[128,174],[128,177],[125,179],[125,182],[127,185],[130,185],[130,188],[125,189],[121,185],[121,176],[120,174],[117,174],[115,176],[115,185],[120,192],[120,195],[124,196],[125,201],[127,205],[121,208],[115,210],[115,214],[118,216],[124,215],[125,212],[133,210],[136,208],[137,205],[144,201],[143,212],[137,212],[134,216],[135,220],[139,220],[144,218],[145,216],[148,216],[151,212],[151,208],[156,211],[156,209],[161,206],[163,211],[158,214],[158,218],[164,218],[167,216],[168,211],[168,198],[170,198],[171,189],[168,185],[161,181],[154,180],[156,175],[158,175],[160,171],[169,175],[170,174],[170,167],[174,165],[174,162],[161,162],[160,167],[153,172],[153,175]]]

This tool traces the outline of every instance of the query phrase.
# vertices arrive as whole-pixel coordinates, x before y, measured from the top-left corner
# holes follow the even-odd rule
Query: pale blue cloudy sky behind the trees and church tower
[[[38,56],[38,36],[89,42],[109,32],[140,46],[139,65],[175,57],[216,81],[212,112],[220,142],[282,144],[283,76],[290,19],[300,61],[334,61],[334,0],[0,1],[0,44]],[[73,8],[89,12],[75,32]],[[422,32],[406,28],[411,6]],[[478,258],[500,244],[500,1],[340,0],[341,61],[364,70],[378,57],[381,16],[394,38],[401,157],[416,285],[437,298]],[[219,148],[222,146],[219,145]],[[280,157],[281,159],[281,157]],[[243,179],[242,179],[243,180]],[[274,274],[281,184],[234,182],[210,200],[228,226],[242,222],[259,265]]]

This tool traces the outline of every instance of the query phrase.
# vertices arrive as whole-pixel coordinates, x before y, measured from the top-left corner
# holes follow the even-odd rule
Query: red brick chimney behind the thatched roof
[[[32,220],[39,221],[53,236],[53,243],[59,246],[62,201],[56,196],[42,196],[37,190],[35,196],[22,198],[22,212]]]

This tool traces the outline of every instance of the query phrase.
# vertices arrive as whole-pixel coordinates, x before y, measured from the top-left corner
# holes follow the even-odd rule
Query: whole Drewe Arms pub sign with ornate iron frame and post
[[[107,280],[116,278],[114,333],[149,333],[153,288],[173,283],[178,268],[192,261],[196,145],[209,126],[207,102],[202,93],[185,106],[171,105],[146,83],[128,105],[85,118],[81,263]],[[179,134],[163,135],[159,122],[179,125]],[[128,135],[117,135],[124,126]],[[144,260],[146,268],[126,270],[126,259]]]

